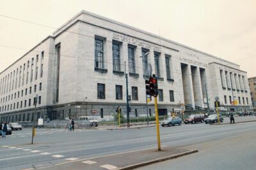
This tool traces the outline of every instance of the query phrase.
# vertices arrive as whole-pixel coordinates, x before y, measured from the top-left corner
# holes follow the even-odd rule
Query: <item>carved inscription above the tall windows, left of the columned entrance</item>
[[[150,48],[156,50],[157,52],[161,52],[160,46],[152,45],[151,43],[147,43],[139,39],[131,38],[129,36],[125,36],[122,34],[113,33],[113,39],[116,39],[118,41],[125,41],[131,45],[142,46],[144,48]]]

